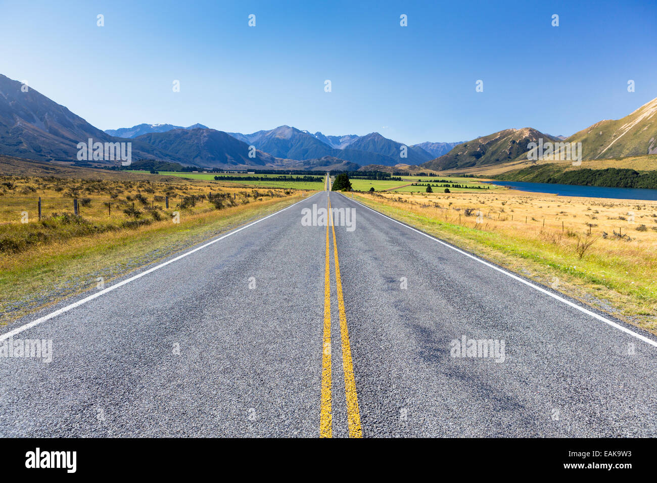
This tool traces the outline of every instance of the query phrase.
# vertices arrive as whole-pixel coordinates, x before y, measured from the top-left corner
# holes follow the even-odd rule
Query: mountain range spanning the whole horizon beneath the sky
[[[620,120],[597,122],[565,142],[581,142],[584,159],[657,154],[656,113],[657,99],[653,99]],[[377,132],[327,136],[290,126],[250,134],[226,133],[201,124],[139,124],[101,131],[32,87],[27,89],[0,74],[0,154],[78,166],[115,165],[114,161],[78,161],[78,143],[90,138],[101,143],[130,139],[135,160],[177,162],[199,168],[345,170],[368,165],[451,170],[504,164],[526,159],[528,143],[564,139],[532,127],[504,129],[464,143],[411,146]]]

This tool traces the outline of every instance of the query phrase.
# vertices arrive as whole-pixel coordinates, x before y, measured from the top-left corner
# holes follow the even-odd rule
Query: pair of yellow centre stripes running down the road
[[[340,336],[342,338],[342,371],[344,372],[344,391],[347,400],[347,419],[350,438],[362,438],[361,415],[358,409],[358,394],[356,382],[353,379],[353,362],[351,360],[351,345],[349,343],[349,330],[347,328],[347,313],[344,310],[344,298],[342,296],[342,279],[340,277],[340,262],[338,261],[338,245],[335,239],[335,227],[330,210],[330,198],[328,199],[328,219],[333,232],[333,258],[335,260],[335,278],[338,292],[338,313],[340,314]],[[324,340],[322,356],[322,393],[321,413],[319,417],[320,438],[331,438],[332,415],[331,415],[331,344],[330,344],[330,249],[328,239],[327,223],[327,248],[326,264],[324,271]]]

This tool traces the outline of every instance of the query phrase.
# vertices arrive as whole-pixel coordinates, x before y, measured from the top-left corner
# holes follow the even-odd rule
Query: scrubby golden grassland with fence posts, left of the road
[[[289,189],[87,171],[97,177],[0,176],[0,324],[302,199]]]

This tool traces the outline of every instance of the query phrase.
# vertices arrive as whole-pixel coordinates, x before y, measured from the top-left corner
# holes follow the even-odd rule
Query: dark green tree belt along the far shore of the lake
[[[657,171],[639,173],[625,168],[606,168],[604,170],[571,170],[555,173],[542,166],[532,166],[517,173],[509,173],[505,179],[529,181],[530,183],[557,183],[560,185],[599,186],[610,188],[657,189]],[[501,176],[499,176],[503,179]]]

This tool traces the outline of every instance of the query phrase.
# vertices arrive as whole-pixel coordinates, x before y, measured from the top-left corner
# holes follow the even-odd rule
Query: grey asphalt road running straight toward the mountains
[[[5,327],[0,436],[657,436],[657,346],[327,198]]]

